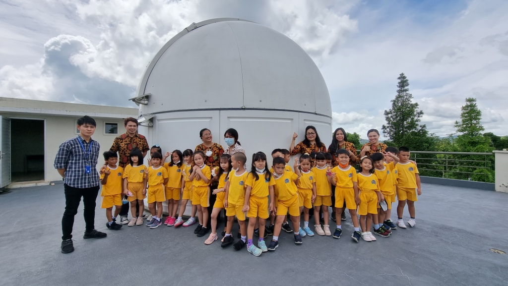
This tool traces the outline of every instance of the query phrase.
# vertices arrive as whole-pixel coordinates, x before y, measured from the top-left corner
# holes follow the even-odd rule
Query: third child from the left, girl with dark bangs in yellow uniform
[[[146,226],[155,229],[162,225],[162,202],[166,201],[164,185],[168,183],[168,171],[161,165],[161,153],[153,153],[151,162],[152,166],[148,167],[146,171],[144,185],[148,184],[148,209],[152,219]],[[155,210],[155,205],[157,210]]]

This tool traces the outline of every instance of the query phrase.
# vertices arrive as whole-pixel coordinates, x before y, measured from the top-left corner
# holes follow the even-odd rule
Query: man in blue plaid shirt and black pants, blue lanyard
[[[83,238],[106,237],[105,233],[94,229],[96,199],[100,188],[96,166],[101,148],[99,142],[91,139],[96,126],[96,121],[90,116],[79,118],[79,136],[63,142],[56,153],[54,167],[63,178],[66,200],[62,217],[62,253],[74,251],[72,228],[81,197],[86,224]]]

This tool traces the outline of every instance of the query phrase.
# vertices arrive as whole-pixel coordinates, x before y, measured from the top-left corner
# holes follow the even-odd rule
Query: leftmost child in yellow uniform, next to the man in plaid
[[[122,208],[122,177],[123,168],[116,166],[118,163],[118,155],[113,151],[104,152],[104,160],[106,166],[101,168],[101,184],[102,184],[102,203],[101,208],[106,209],[106,217],[108,222],[106,227],[110,230],[119,230],[122,225],[116,223],[116,216]],[[112,215],[113,206],[115,206],[115,215]]]

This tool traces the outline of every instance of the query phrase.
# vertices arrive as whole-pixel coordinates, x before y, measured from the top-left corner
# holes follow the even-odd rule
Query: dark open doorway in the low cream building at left
[[[44,162],[44,120],[12,118],[12,182],[44,180]]]

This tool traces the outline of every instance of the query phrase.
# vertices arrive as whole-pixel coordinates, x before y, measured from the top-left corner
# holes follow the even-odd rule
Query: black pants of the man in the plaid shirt
[[[99,186],[77,188],[63,184],[63,190],[65,191],[65,211],[62,217],[62,240],[72,238],[74,216],[78,213],[81,197],[83,197],[83,216],[86,224],[85,231],[92,231],[95,228],[95,202],[99,194]]]

